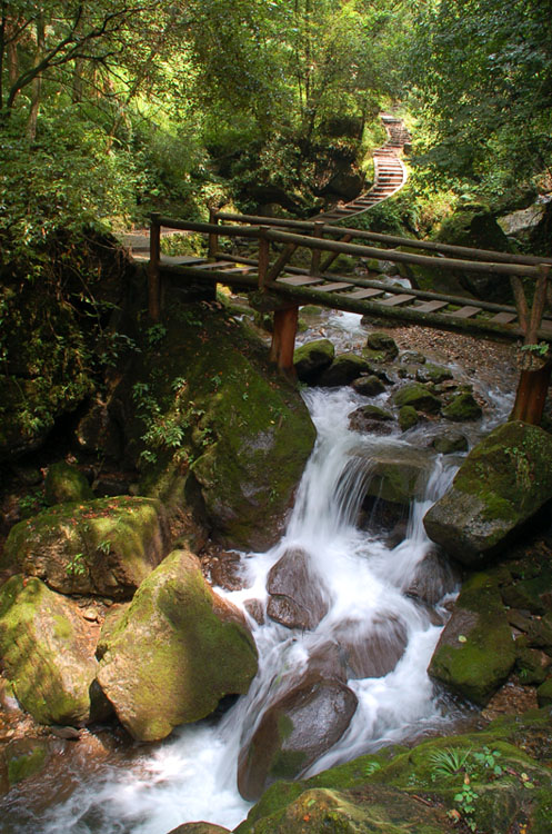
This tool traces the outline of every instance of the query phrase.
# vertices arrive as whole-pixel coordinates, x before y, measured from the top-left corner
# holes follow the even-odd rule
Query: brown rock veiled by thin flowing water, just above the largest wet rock
[[[344,622],[334,631],[351,678],[384,677],[394,669],[408,645],[408,633],[397,617],[371,623]]]

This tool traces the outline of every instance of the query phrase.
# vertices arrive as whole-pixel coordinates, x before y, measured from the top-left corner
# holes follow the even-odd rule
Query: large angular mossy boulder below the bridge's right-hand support
[[[464,565],[478,565],[550,498],[552,437],[506,423],[472,449],[423,523],[433,542]]]

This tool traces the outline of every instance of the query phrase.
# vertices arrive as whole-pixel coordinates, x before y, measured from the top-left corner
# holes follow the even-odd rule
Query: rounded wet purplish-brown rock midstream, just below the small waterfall
[[[269,617],[288,628],[315,628],[328,614],[329,592],[299,548],[287,550],[271,568],[267,590]]]

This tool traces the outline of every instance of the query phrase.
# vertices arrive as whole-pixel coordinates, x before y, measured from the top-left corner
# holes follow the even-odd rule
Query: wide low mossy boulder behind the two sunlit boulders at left
[[[10,530],[2,565],[62,594],[129,599],[167,553],[160,502],[98,498],[59,504]]]

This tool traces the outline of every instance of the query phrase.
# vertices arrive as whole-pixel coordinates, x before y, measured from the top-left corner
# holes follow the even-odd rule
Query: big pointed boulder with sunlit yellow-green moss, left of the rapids
[[[174,550],[116,624],[98,681],[128,732],[151,742],[245,693],[255,673],[241,612],[211,590],[195,556]]]

